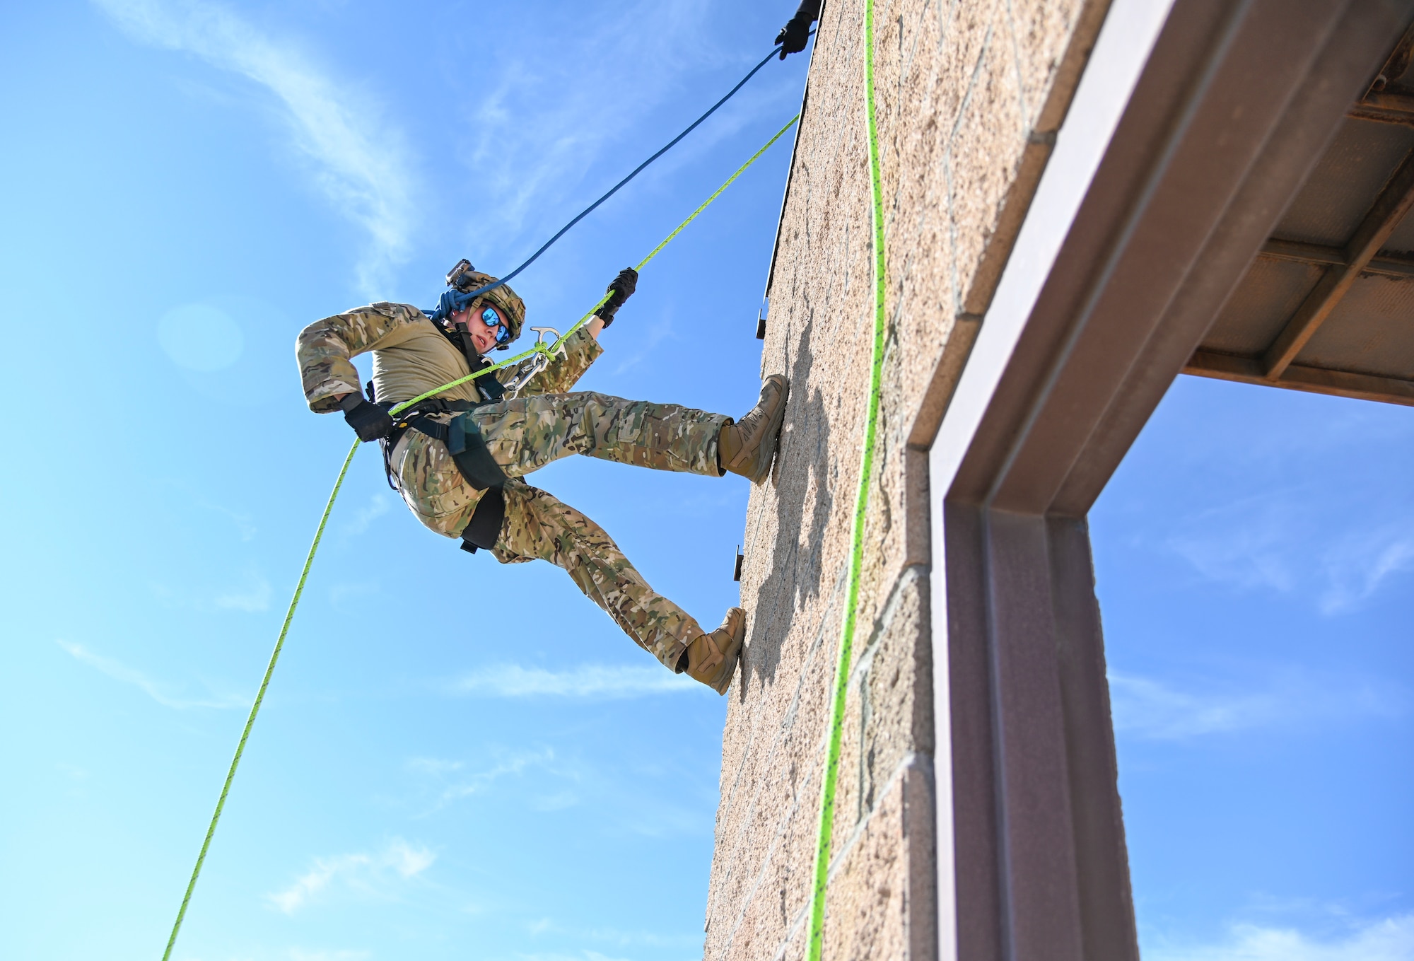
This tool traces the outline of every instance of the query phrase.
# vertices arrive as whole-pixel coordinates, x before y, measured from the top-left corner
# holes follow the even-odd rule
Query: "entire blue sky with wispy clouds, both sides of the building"
[[[349,442],[304,410],[294,334],[518,263],[793,6],[0,8],[7,375],[38,424],[0,475],[0,955],[160,955]],[[529,270],[536,319],[765,141],[805,65]],[[788,147],[645,271],[585,387],[751,404]],[[1404,408],[1182,380],[1097,506],[1148,957],[1414,957],[1411,441]],[[735,602],[745,481],[537,483],[704,622]],[[373,451],[305,598],[178,958],[700,954],[720,698],[560,571],[424,531]]]

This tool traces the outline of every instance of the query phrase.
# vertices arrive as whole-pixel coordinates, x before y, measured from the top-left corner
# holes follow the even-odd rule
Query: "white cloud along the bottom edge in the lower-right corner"
[[[1290,927],[1237,924],[1219,944],[1145,944],[1147,961],[1411,961],[1414,914],[1365,923],[1319,938]]]

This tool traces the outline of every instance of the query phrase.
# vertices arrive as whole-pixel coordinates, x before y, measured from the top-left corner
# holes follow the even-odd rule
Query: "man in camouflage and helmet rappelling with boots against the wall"
[[[725,694],[745,612],[731,608],[720,627],[703,630],[649,586],[602,527],[523,481],[571,454],[706,476],[730,471],[752,483],[769,476],[786,406],[781,375],[766,377],[740,421],[677,404],[568,393],[604,353],[600,332],[636,283],[636,271],[619,271],[605,302],[547,363],[491,370],[395,417],[389,410],[399,403],[491,367],[486,355],[520,336],[520,297],[462,260],[433,311],[380,302],[304,328],[296,345],[300,377],[310,410],[341,410],[361,440],[382,445],[389,482],[426,527],[502,564],[540,558],[564,568],[639,647]],[[368,352],[373,380],[365,397],[349,359]]]

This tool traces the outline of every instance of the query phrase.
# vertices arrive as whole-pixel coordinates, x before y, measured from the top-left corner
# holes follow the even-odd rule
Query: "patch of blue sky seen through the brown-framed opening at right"
[[[1090,514],[1141,944],[1414,958],[1414,410],[1181,377]]]

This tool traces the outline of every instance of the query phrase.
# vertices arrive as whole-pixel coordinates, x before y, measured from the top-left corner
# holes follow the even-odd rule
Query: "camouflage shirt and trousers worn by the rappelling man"
[[[318,413],[337,410],[335,396],[359,390],[349,358],[368,350],[373,352],[379,401],[410,400],[469,373],[461,352],[421,311],[404,304],[373,304],[311,324],[296,350],[304,394]],[[602,527],[520,478],[571,454],[715,478],[721,473],[717,437],[730,418],[676,404],[564,393],[602,352],[581,328],[519,396],[436,420],[471,418],[510,478],[505,521],[491,551],[495,558],[502,564],[540,558],[564,568],[629,637],[674,667],[686,644],[704,633],[701,626],[655,592]],[[506,382],[515,373],[505,369],[484,376]],[[471,383],[440,396],[479,400]],[[444,537],[460,537],[484,492],[467,482],[445,444],[409,430],[390,461],[403,500],[417,519]]]

